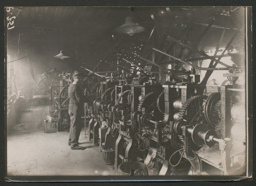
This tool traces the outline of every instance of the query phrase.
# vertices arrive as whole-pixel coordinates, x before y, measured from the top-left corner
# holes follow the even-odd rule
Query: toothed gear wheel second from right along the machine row
[[[154,105],[156,107],[156,102],[153,103],[153,105],[151,105],[152,101],[155,101],[160,95],[160,93],[161,92],[150,92],[146,94],[141,100],[141,102],[139,102],[137,110],[139,112],[142,112],[142,108],[145,108],[145,110],[148,110],[148,112],[152,112],[154,110],[154,107],[152,106]]]

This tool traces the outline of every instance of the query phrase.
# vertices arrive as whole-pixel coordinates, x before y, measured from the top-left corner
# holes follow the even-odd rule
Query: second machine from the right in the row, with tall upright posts
[[[152,176],[171,174],[169,158],[175,148],[171,146],[169,122],[177,119],[178,110],[182,107],[180,104],[183,101],[195,93],[202,95],[204,90],[204,86],[197,84],[200,78],[199,75],[195,74],[193,68],[191,71],[178,71],[158,66],[167,71],[173,81],[161,85],[158,91],[152,91],[145,95],[139,102],[138,114],[136,115],[136,120],[141,125],[140,136],[145,141],[148,150],[144,161],[144,172]],[[174,105],[178,105],[178,107],[174,107]],[[148,165],[155,160],[158,162],[157,167],[155,170],[150,170]],[[188,166],[183,166],[182,169],[179,167],[175,172],[181,175],[182,171],[187,168]],[[173,169],[171,170],[173,171]]]

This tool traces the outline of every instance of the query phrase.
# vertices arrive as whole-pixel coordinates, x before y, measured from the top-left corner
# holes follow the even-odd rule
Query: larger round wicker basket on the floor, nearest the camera
[[[134,170],[134,176],[143,176],[143,163],[141,162],[133,162],[130,161],[124,162],[124,160],[127,158],[124,158],[122,160],[122,163],[118,166],[118,172],[124,176],[130,176],[131,175],[131,170]]]

